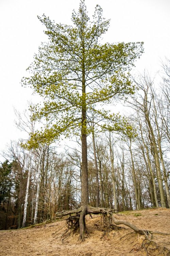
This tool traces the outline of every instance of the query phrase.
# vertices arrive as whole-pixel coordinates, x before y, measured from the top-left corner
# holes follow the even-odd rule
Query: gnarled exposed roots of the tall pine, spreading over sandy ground
[[[103,226],[106,228],[104,230],[103,236],[105,236],[106,233],[108,234],[108,232],[113,229],[114,230],[118,230],[118,229],[122,229],[122,228],[127,229],[120,225],[124,225],[126,227],[131,228],[133,230],[132,233],[136,232],[136,233],[139,233],[140,235],[144,235],[145,239],[143,240],[141,247],[145,250],[147,255],[148,255],[147,249],[150,244],[154,245],[155,248],[158,247],[157,243],[152,240],[152,236],[154,233],[169,235],[169,233],[162,233],[159,231],[140,229],[132,223],[115,218],[114,217],[115,213],[117,213],[117,212],[114,209],[95,208],[95,207],[91,207],[91,206],[81,207],[78,210],[57,212],[56,218],[62,218],[63,216],[70,215],[66,219],[67,229],[63,233],[62,241],[65,238],[67,238],[71,234],[71,232],[77,232],[78,230],[80,231],[79,240],[81,242],[84,241],[85,233],[86,233],[85,216],[87,214],[89,214],[90,216],[91,216],[91,214],[101,214],[101,216],[103,217]]]

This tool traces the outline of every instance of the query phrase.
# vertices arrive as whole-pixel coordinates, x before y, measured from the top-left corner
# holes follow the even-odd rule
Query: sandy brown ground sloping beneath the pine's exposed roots
[[[61,236],[66,221],[57,221],[29,229],[7,230],[0,233],[0,255],[9,256],[144,256],[146,250],[141,248],[145,239],[133,230],[112,230],[104,234],[100,215],[86,216],[88,234],[83,243],[78,242],[79,234],[71,234],[62,241]],[[170,233],[170,209],[153,208],[141,211],[121,212],[117,219],[124,219],[142,229]],[[55,233],[57,231],[57,233]],[[55,233],[55,234],[54,234]],[[170,255],[170,235],[154,233],[153,240],[147,248],[148,255]],[[147,246],[146,246],[147,247]]]

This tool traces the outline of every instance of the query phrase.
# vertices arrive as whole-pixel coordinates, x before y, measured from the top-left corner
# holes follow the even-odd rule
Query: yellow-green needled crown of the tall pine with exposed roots
[[[30,148],[53,141],[61,134],[76,134],[76,128],[87,134],[86,115],[94,105],[98,104],[95,111],[103,118],[108,113],[101,104],[134,93],[129,71],[143,52],[142,42],[101,44],[109,20],[102,17],[99,5],[92,21],[84,1],[80,2],[78,13],[72,13],[73,25],[55,24],[45,15],[38,18],[46,26],[49,41],[39,47],[28,68],[31,76],[23,78],[22,85],[30,85],[44,98],[44,105],[34,108],[34,119],[50,120],[51,126],[31,134]],[[116,122],[114,126],[120,129]]]

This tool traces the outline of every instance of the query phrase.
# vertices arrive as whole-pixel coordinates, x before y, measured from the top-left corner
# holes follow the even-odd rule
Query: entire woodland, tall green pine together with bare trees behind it
[[[109,24],[100,6],[90,25],[84,1],[72,14],[75,27],[39,19],[50,41],[22,84],[45,101],[15,110],[28,139],[11,141],[2,154],[0,229],[81,209],[83,241],[88,209],[170,208],[170,60],[159,79],[130,75],[143,43],[99,43]]]

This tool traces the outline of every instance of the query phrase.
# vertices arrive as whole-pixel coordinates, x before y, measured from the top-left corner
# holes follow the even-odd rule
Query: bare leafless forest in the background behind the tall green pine
[[[145,74],[126,111],[135,136],[95,130],[88,136],[89,204],[118,211],[167,207],[169,196],[170,62],[158,87]],[[157,88],[157,89],[155,89]],[[16,112],[18,128],[28,133],[30,112]],[[34,150],[12,141],[0,167],[0,228],[20,228],[54,219],[55,213],[81,204],[81,142],[58,152],[57,144]]]

